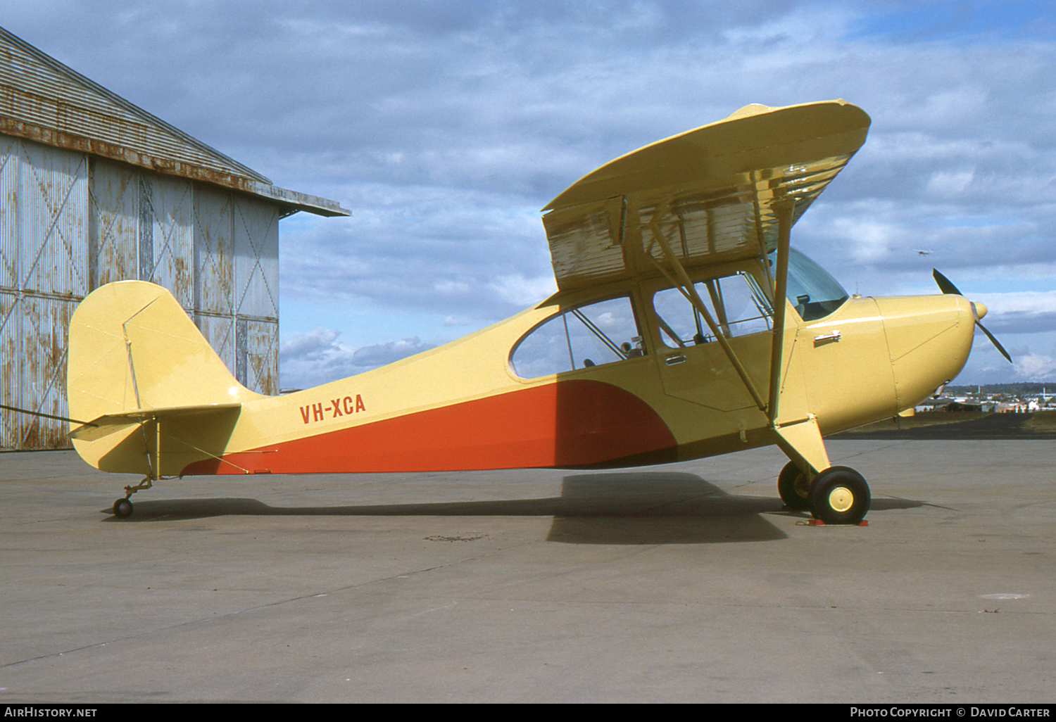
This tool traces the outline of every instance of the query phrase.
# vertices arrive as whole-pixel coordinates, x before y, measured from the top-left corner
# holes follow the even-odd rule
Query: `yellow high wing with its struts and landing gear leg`
[[[816,422],[779,417],[789,234],[865,142],[869,124],[844,100],[746,106],[605,164],[543,209],[559,288],[666,277],[722,345],[777,443],[815,471],[828,466]],[[752,258],[771,277],[771,301],[779,300],[766,397],[690,281],[702,266]]]

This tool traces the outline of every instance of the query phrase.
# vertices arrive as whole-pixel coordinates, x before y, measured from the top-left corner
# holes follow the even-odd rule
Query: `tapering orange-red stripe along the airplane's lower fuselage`
[[[231,463],[197,461],[183,474],[590,467],[671,460],[659,457],[674,458],[676,446],[663,419],[634,394],[571,380],[226,454]]]

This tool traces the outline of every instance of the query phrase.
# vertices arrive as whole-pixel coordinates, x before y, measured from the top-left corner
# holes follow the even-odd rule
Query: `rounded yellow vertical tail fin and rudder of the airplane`
[[[235,381],[172,294],[144,281],[107,284],[81,302],[68,359],[70,416],[107,417],[91,433],[75,433],[74,448],[107,471],[178,473],[222,445],[238,405],[259,396]],[[161,470],[151,468],[153,432],[137,433],[148,421],[175,441]]]

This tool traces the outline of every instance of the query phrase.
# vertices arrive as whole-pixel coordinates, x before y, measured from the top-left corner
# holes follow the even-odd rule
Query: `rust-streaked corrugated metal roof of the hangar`
[[[0,133],[260,195],[287,212],[350,215],[257,171],[86,78],[0,27]]]

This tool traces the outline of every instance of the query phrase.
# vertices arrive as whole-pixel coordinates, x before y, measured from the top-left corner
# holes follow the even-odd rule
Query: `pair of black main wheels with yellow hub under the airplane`
[[[856,525],[872,499],[865,478],[848,467],[829,467],[810,481],[789,461],[777,477],[781,501],[794,511],[809,511],[825,524]]]

